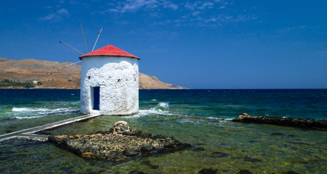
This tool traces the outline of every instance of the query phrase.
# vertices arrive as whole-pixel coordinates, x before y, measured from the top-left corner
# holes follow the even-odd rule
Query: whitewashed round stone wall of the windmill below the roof
[[[92,86],[100,86],[101,115],[138,113],[138,59],[120,56],[83,57],[81,72],[83,114],[92,113]]]

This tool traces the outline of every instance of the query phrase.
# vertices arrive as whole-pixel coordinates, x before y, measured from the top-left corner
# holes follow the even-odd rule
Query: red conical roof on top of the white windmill
[[[82,60],[82,57],[86,57],[86,56],[124,56],[124,57],[132,57],[132,58],[139,59],[138,57],[136,57],[132,54],[129,54],[126,51],[123,51],[112,45],[108,45],[108,46],[102,47],[98,50],[84,54],[84,55],[80,56],[79,58]]]

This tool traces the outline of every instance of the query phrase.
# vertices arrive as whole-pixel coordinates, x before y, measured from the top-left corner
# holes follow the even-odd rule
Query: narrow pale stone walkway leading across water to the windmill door
[[[55,127],[59,127],[62,125],[74,123],[74,122],[79,122],[79,121],[84,121],[90,118],[95,118],[100,116],[100,114],[89,114],[89,115],[84,115],[81,117],[76,117],[76,118],[70,118],[67,120],[62,120],[50,124],[44,124],[41,126],[33,127],[33,128],[28,128],[24,130],[19,130],[17,132],[5,134],[5,135],[0,135],[0,143],[7,142],[9,140],[15,139],[15,138],[24,138],[24,139],[30,139],[30,140],[37,140],[37,141],[48,141],[49,135],[36,135],[35,133],[40,132],[42,130],[48,130],[52,129]]]

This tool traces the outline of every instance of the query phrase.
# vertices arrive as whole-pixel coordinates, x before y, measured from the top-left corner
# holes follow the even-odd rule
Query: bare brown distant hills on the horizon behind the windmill
[[[9,79],[15,82],[41,81],[38,88],[80,88],[81,66],[58,68],[72,62],[57,62],[36,59],[11,60],[0,58],[0,81]],[[159,81],[155,76],[139,73],[139,89],[187,89],[175,84]]]

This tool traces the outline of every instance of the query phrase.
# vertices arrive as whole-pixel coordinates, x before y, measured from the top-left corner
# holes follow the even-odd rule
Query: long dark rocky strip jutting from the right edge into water
[[[232,122],[274,124],[280,126],[301,127],[301,128],[327,128],[327,120],[295,119],[290,117],[252,117],[246,113],[241,114]]]

